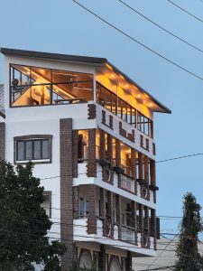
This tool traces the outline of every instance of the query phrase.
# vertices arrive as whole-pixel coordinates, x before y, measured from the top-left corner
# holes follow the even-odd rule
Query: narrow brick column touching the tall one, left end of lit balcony
[[[78,130],[72,131],[72,175],[78,177]]]

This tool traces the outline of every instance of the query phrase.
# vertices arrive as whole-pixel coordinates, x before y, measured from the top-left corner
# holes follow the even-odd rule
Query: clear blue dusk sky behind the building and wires
[[[181,39],[203,50],[203,23],[167,0],[124,0]],[[203,20],[202,0],[173,0]],[[203,52],[163,32],[118,0],[78,0],[123,32],[203,78]],[[72,0],[0,0],[0,47],[105,57],[170,107],[154,116],[156,160],[203,153],[203,79],[133,42]],[[0,56],[0,83],[3,56]],[[193,192],[203,206],[203,155],[158,163],[157,215],[181,216],[182,196]],[[201,212],[203,216],[203,212]],[[180,220],[161,219],[161,232]]]

